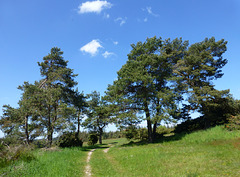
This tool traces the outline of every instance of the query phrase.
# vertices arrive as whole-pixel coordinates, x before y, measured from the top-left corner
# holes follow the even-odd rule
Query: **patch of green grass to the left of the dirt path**
[[[83,176],[87,151],[82,148],[65,148],[60,151],[36,151],[36,160],[17,162],[0,169],[0,176]]]

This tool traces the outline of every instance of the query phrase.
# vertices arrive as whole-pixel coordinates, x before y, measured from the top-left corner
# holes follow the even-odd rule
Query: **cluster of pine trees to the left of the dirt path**
[[[79,135],[84,115],[91,118],[92,128],[102,130],[105,126],[96,122],[98,119],[93,120],[98,114],[102,115],[101,110],[96,108],[100,106],[100,96],[94,92],[93,101],[89,101],[89,108],[97,112],[87,110],[87,97],[75,89],[77,82],[74,78],[77,75],[67,67],[68,61],[63,59],[62,54],[59,48],[52,48],[50,54],[38,62],[42,79],[34,84],[24,82],[18,87],[22,91],[18,108],[3,106],[0,126],[6,136],[18,135],[27,144],[36,137],[44,136],[51,146],[54,133],[77,129]]]

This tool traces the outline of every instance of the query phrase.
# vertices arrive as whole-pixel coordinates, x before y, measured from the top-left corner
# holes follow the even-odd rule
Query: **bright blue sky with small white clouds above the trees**
[[[153,36],[227,40],[225,74],[214,83],[240,99],[240,0],[1,0],[0,107],[17,107],[17,86],[41,79],[37,62],[52,47],[79,74],[79,90],[103,94],[130,44]]]

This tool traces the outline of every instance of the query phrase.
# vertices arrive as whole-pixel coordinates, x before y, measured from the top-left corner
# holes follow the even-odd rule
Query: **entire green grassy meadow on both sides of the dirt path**
[[[87,153],[92,176],[238,176],[240,131],[222,126],[164,137],[158,143],[104,140],[102,146],[35,151],[35,160],[0,169],[2,176],[84,176]],[[110,147],[106,153],[103,150]]]

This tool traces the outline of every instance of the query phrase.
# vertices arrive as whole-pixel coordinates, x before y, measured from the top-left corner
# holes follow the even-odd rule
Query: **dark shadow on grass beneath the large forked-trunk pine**
[[[149,143],[147,140],[140,140],[140,141],[130,141],[127,144],[121,145],[122,147],[132,147],[132,146],[144,146],[148,144],[156,144],[156,143],[164,143],[164,142],[171,142],[171,141],[178,141],[181,140],[186,133],[175,134],[171,136],[161,136],[156,138],[153,143]]]

